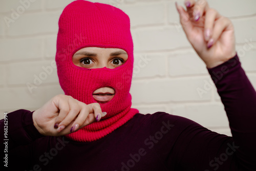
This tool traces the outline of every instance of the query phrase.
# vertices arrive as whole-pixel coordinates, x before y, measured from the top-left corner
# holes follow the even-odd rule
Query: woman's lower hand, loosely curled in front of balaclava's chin
[[[45,136],[73,133],[106,115],[99,103],[85,104],[71,96],[57,95],[33,113],[38,132]]]

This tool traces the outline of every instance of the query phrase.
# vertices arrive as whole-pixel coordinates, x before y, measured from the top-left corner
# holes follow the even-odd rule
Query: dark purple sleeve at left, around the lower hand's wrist
[[[33,112],[27,110],[17,110],[7,114],[7,136],[8,149],[13,149],[19,145],[26,145],[33,140],[43,137],[33,124]],[[4,132],[4,119],[0,121],[2,133]],[[5,131],[6,131],[5,130]],[[4,134],[3,134],[4,135]],[[2,139],[4,141],[4,139]],[[2,142],[1,144],[3,144]]]

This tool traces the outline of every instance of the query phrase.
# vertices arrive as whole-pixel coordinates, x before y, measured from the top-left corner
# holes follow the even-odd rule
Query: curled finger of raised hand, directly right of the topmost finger
[[[205,13],[204,22],[204,39],[209,41],[214,28],[215,20],[219,19],[221,15],[215,9],[208,9]]]

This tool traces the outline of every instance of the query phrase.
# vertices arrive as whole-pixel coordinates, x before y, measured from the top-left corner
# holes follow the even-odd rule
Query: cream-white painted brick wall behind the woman
[[[1,1],[0,118],[5,111],[36,110],[53,96],[63,94],[54,68],[37,88],[32,89],[32,93],[27,83],[34,83],[35,76],[44,76],[42,67],[51,67],[56,52],[58,18],[72,1]],[[180,27],[174,0],[92,2],[116,6],[131,18],[135,46],[131,89],[134,108],[143,114],[163,111],[180,115],[212,131],[230,135],[220,97],[211,86],[204,63]],[[183,3],[181,0],[177,2]],[[232,20],[238,54],[256,88],[256,1],[208,2],[210,7]],[[15,15],[13,11],[18,10],[20,14]],[[4,18],[12,16],[15,19],[6,24]],[[200,96],[197,89],[204,87],[207,92]]]

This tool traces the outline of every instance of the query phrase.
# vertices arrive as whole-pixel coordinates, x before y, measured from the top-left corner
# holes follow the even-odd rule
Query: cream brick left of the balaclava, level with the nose
[[[57,69],[52,66],[51,62],[55,61],[12,63],[7,67],[7,82],[10,85],[23,84],[24,87],[27,87],[27,83],[36,87],[45,83],[58,83]],[[42,67],[47,68],[47,71]]]

